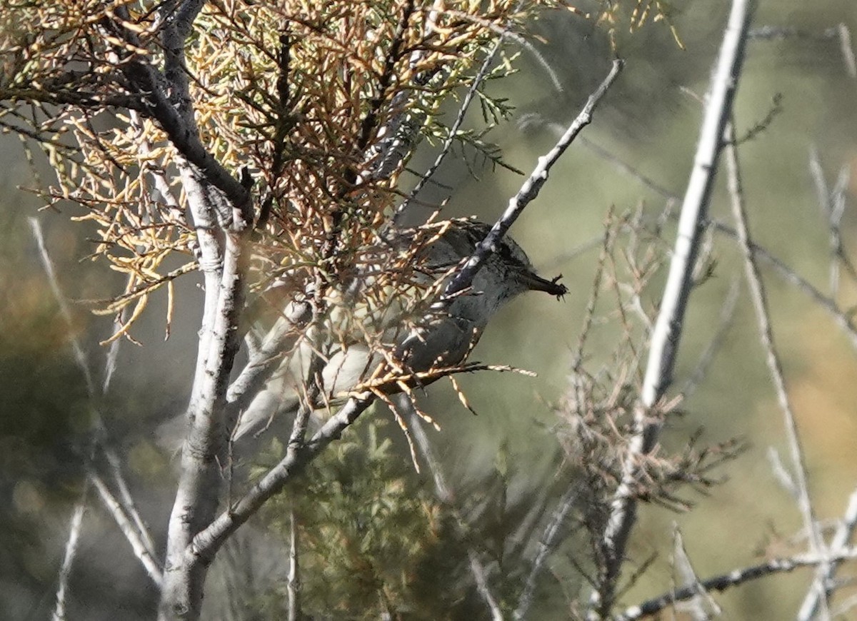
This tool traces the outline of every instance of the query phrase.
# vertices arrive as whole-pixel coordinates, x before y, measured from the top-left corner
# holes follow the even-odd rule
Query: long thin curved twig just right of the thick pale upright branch
[[[747,227],[746,209],[744,206],[744,194],[741,188],[740,164],[738,160],[738,148],[734,145],[734,123],[729,123],[724,138],[726,140],[726,164],[728,170],[728,189],[732,203],[732,213],[735,220],[735,228],[738,230],[738,236],[741,242],[741,249],[744,254],[744,266],[746,272],[747,286],[750,289],[750,297],[752,299],[753,308],[756,310],[756,319],[758,319],[759,337],[762,340],[762,346],[765,352],[765,361],[768,364],[770,379],[776,390],[776,399],[782,410],[783,420],[786,427],[786,435],[788,438],[788,447],[792,458],[792,476],[794,484],[797,488],[798,507],[800,515],[803,517],[804,528],[809,534],[810,549],[813,553],[824,554],[824,540],[818,529],[814,511],[812,509],[812,501],[809,495],[809,483],[806,475],[806,458],[800,442],[800,433],[798,432],[797,421],[794,418],[794,410],[792,409],[791,401],[788,398],[786,391],[786,380],[782,373],[782,362],[776,351],[774,342],[774,333],[770,327],[770,313],[768,311],[768,300],[765,295],[764,283],[762,282],[761,274],[758,270],[758,263],[753,256],[752,248],[750,247],[750,233]],[[821,568],[826,571],[828,565],[823,563]],[[822,617],[830,618],[828,610],[826,594],[821,602]]]

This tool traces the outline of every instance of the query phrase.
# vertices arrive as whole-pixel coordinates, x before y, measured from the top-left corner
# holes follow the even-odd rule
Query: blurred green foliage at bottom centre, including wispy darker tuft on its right
[[[297,524],[300,607],[312,618],[483,618],[488,612],[471,573],[486,570],[492,594],[511,612],[531,568],[533,546],[556,485],[523,481],[501,447],[493,466],[437,499],[390,434],[389,422],[361,419],[315,461],[262,519],[288,547]],[[267,457],[275,458],[282,446]],[[514,490],[514,491],[512,491]],[[286,585],[261,594],[262,618],[279,618]]]

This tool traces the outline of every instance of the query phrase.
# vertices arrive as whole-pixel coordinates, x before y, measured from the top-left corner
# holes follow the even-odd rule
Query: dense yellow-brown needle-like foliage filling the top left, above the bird
[[[182,17],[164,9],[182,3],[0,4],[0,123],[44,150],[56,178],[36,191],[81,206],[93,257],[127,275],[102,308],[129,325],[197,267],[180,154],[127,73],[131,62],[163,69],[164,15]],[[403,119],[439,132],[441,101],[537,4],[548,2],[205,3],[186,74],[203,145],[253,184],[250,289],[309,267],[329,276],[375,242],[408,155],[381,170],[382,140]],[[321,248],[333,235],[331,260]]]

